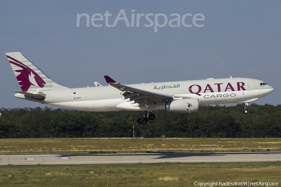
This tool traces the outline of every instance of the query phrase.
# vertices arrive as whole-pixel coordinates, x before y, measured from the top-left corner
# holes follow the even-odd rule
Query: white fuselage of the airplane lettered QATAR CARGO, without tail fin
[[[172,95],[173,98],[197,98],[200,105],[224,103],[249,103],[271,93],[274,89],[263,81],[247,78],[206,79],[127,85],[150,92]],[[43,101],[22,94],[15,97],[34,100],[39,103],[82,111],[146,110],[135,107],[130,99],[124,99],[122,91],[112,86],[72,88],[58,90],[37,90],[43,92]],[[164,102],[155,102],[153,110],[165,109]]]

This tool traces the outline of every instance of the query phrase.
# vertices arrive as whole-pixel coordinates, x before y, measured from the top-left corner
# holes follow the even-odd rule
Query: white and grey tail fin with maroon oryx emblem
[[[23,92],[67,89],[52,81],[20,52],[6,53],[6,55]]]

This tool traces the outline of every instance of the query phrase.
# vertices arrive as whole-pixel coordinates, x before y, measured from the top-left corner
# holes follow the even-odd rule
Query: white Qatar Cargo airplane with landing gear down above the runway
[[[67,88],[52,81],[20,52],[6,53],[22,91],[16,98],[54,107],[80,111],[144,111],[137,122],[154,120],[153,110],[192,113],[200,105],[243,103],[247,107],[269,93],[273,87],[248,78],[187,80],[125,85],[104,76],[109,86]],[[98,86],[99,85],[99,86]]]

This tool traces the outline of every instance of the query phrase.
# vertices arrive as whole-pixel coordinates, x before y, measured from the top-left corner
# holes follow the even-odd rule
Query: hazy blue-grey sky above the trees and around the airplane
[[[132,9],[135,12],[132,12]],[[106,27],[94,14],[108,11],[113,25],[124,10],[153,14],[151,27],[145,16],[140,26],[119,20]],[[14,98],[20,90],[5,52],[21,52],[56,83],[69,87],[106,85],[104,75],[122,84],[247,77],[274,87],[257,104],[281,104],[281,2],[280,1],[4,1],[0,7],[0,108],[44,107]],[[88,14],[80,18],[77,14]],[[155,14],[185,14],[191,27],[157,27]],[[192,18],[203,14],[196,27]],[[123,16],[121,16],[123,17]],[[98,18],[98,17],[95,17]],[[200,16],[198,17],[200,18]],[[158,17],[159,24],[164,17]],[[173,22],[172,24],[176,24]]]

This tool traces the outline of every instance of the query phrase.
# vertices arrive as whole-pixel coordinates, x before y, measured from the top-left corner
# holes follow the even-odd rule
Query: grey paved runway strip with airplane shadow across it
[[[281,152],[2,155],[0,165],[281,161]]]

